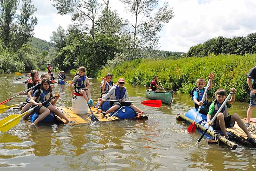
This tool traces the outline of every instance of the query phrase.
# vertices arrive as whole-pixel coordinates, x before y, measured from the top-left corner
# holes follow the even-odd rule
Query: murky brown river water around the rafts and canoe
[[[43,72],[40,72],[40,74]],[[40,75],[39,74],[39,75]],[[56,74],[54,74],[56,75]],[[0,74],[0,102],[26,89],[14,74]],[[67,75],[72,80],[72,75]],[[100,95],[100,80],[91,79],[92,99]],[[71,107],[68,85],[53,85],[61,97],[56,106]],[[125,85],[130,100],[144,101],[146,87]],[[249,96],[249,95],[248,95]],[[4,105],[24,102],[18,96]],[[218,144],[207,144],[201,134],[188,134],[188,125],[176,121],[177,113],[193,107],[189,95],[175,93],[172,105],[153,108],[136,104],[149,119],[118,120],[78,125],[30,126],[20,123],[0,132],[0,169],[2,170],[255,170],[256,151],[239,145],[236,150]],[[248,103],[235,102],[229,113],[246,117]],[[0,119],[19,113],[11,109]],[[255,117],[255,115],[253,115]]]

